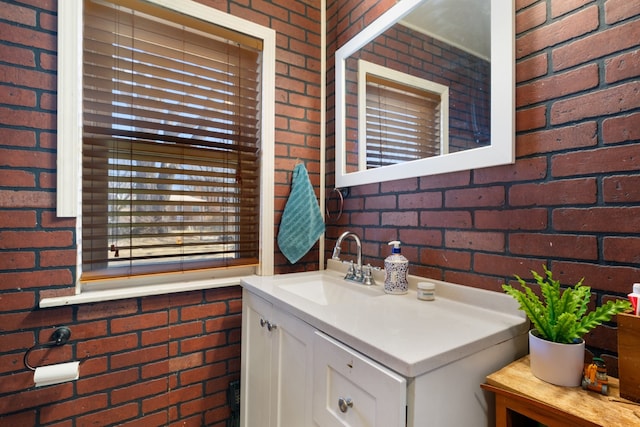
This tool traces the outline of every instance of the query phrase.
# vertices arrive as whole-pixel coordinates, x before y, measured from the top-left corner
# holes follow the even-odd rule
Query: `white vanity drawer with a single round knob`
[[[314,339],[313,419],[319,427],[404,427],[406,380],[322,332]]]

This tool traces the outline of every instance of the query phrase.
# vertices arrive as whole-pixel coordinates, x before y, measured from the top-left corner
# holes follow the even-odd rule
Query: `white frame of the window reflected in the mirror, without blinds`
[[[449,88],[363,59],[358,60],[358,141],[367,140],[367,75],[440,96],[440,155],[449,153]],[[358,144],[358,170],[367,170],[367,144]]]

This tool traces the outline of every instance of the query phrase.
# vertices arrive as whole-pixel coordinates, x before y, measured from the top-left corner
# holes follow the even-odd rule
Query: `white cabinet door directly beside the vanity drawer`
[[[275,309],[277,343],[274,359],[277,381],[278,427],[311,426],[313,393],[313,332],[302,320]],[[256,426],[258,424],[255,424]]]

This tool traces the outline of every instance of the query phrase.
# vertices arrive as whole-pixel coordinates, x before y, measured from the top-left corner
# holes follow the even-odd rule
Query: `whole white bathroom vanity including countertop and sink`
[[[527,352],[511,297],[438,282],[425,302],[342,276],[243,279],[242,427],[494,423],[480,384]]]

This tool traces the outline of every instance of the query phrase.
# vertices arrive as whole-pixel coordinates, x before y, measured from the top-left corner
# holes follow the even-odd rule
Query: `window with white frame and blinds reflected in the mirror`
[[[363,60],[358,85],[358,139],[366,142],[359,151],[361,169],[448,152],[446,86]]]

